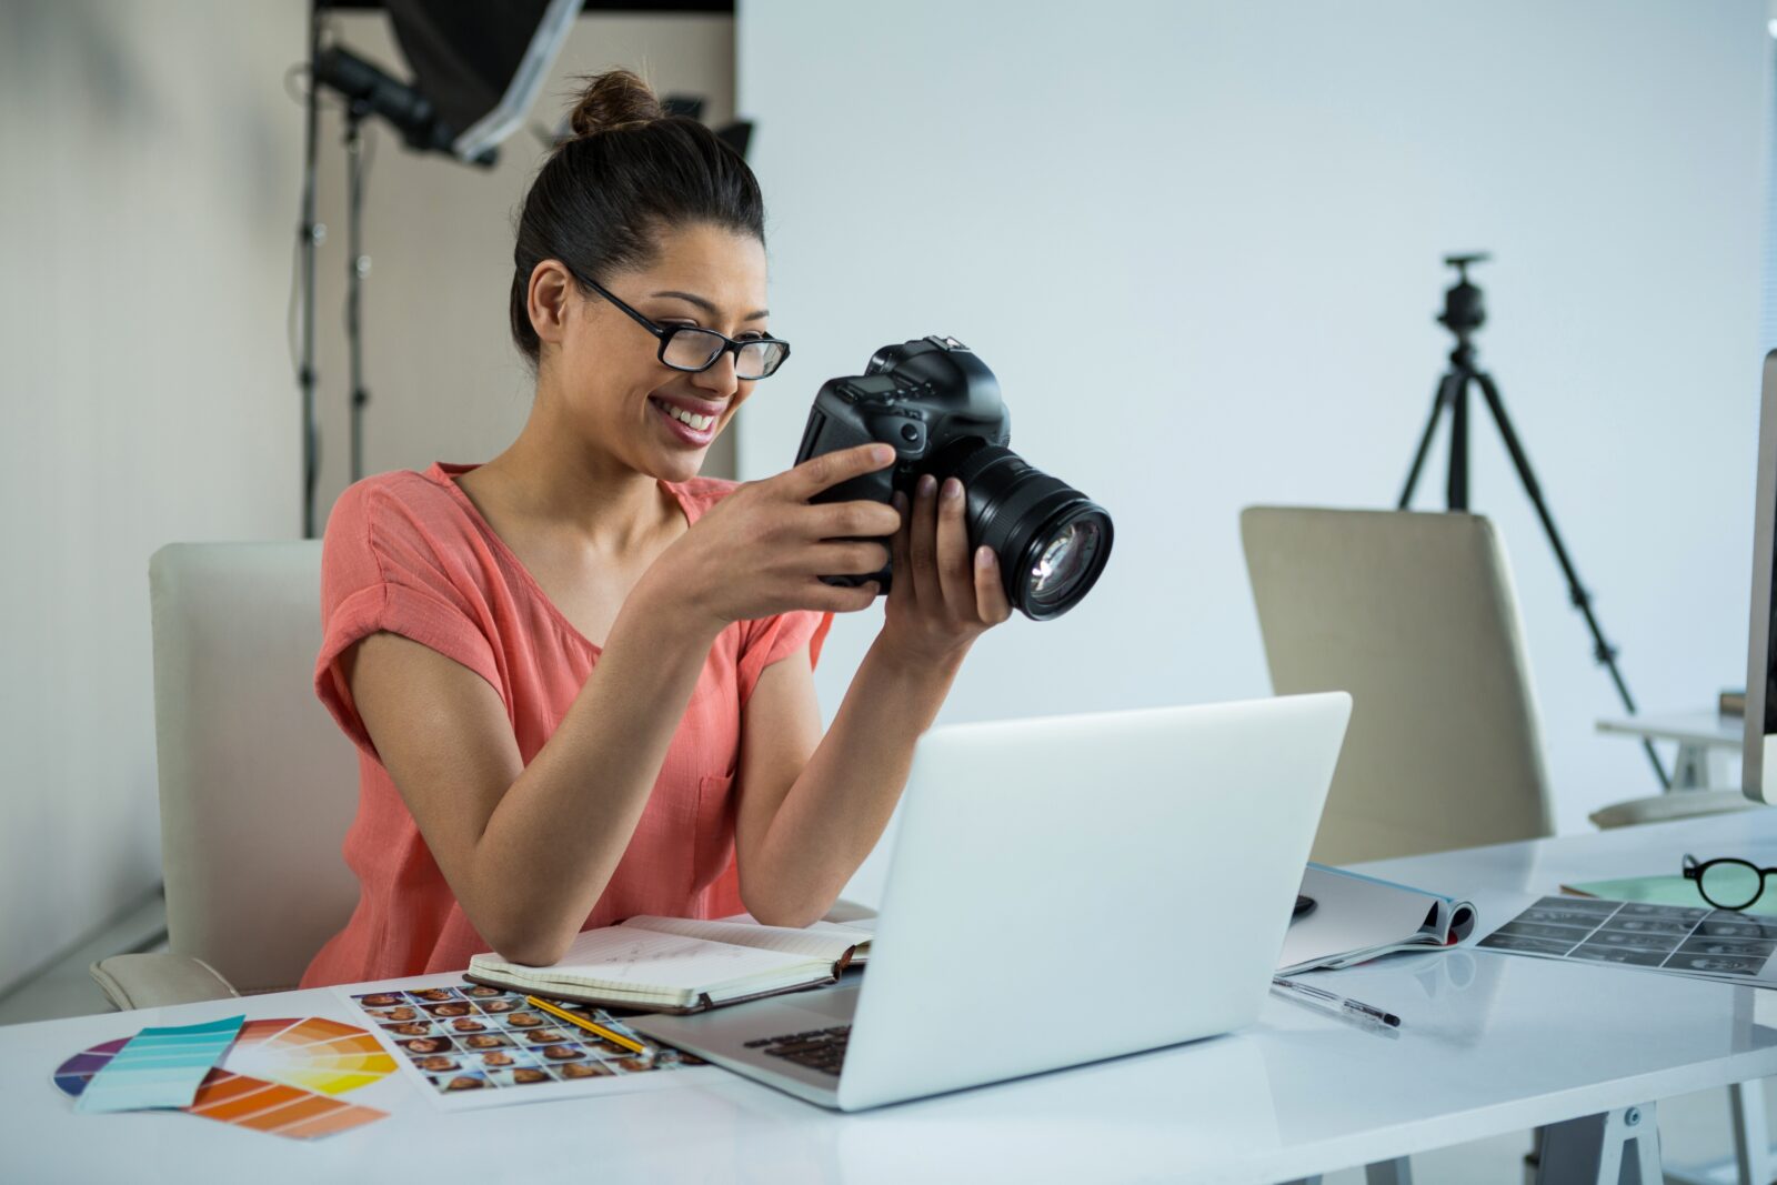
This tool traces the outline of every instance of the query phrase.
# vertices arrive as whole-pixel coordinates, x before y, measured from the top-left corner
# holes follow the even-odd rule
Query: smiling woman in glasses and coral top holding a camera
[[[389,473],[327,524],[316,693],[361,748],[361,899],[304,986],[554,963],[636,913],[819,919],[869,855],[970,643],[1011,615],[956,481],[912,505],[810,505],[885,446],[736,487],[711,441],[787,355],[766,327],[746,163],[590,82],[514,249],[537,370],[483,465]],[[794,398],[794,393],[791,393]],[[821,736],[833,613],[883,627]]]

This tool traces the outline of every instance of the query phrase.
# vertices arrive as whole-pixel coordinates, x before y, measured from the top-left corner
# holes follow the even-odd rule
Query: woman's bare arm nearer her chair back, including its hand
[[[887,453],[887,449],[885,449]],[[807,497],[888,464],[832,453],[737,490],[643,574],[562,725],[524,766],[505,705],[478,675],[393,634],[341,657],[377,753],[476,933],[517,963],[553,963],[629,846],[716,634],[794,608],[848,611],[873,588],[896,515]],[[887,515],[887,521],[883,519]]]

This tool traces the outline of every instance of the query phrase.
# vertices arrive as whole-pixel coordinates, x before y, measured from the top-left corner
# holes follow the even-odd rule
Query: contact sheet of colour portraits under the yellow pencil
[[[649,1048],[640,1055],[531,1007],[522,995],[451,981],[405,991],[339,991],[396,1055],[403,1073],[448,1109],[691,1086],[718,1073],[640,1038],[604,1009],[586,1018]]]

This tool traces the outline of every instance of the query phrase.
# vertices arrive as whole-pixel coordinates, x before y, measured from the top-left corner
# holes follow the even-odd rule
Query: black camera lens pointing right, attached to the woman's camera
[[[1091,592],[1111,558],[1111,515],[1098,503],[979,439],[936,467],[968,490],[968,537],[999,556],[1013,608],[1043,622]]]

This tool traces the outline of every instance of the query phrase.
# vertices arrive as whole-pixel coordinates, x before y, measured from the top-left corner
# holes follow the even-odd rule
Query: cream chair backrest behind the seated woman
[[[320,563],[291,542],[147,565],[167,938],[240,991],[295,986],[357,903],[357,750],[313,691]]]

